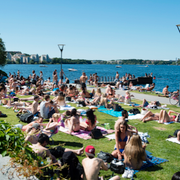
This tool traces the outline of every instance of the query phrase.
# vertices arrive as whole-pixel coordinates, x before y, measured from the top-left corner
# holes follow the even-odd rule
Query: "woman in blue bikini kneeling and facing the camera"
[[[115,124],[115,141],[116,147],[112,152],[112,155],[119,160],[124,156],[124,148],[130,140],[130,132],[127,130],[128,125],[126,121],[119,121]]]

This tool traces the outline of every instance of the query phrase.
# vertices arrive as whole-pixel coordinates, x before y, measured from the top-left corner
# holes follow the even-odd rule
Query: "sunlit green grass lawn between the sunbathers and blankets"
[[[133,101],[136,103],[142,103],[142,101],[139,100],[133,100]],[[76,106],[76,104],[71,104],[71,105]],[[126,110],[132,108],[126,105],[122,105],[122,107]],[[178,107],[171,105],[168,105],[168,107],[180,113],[180,109]],[[6,120],[12,125],[19,123],[19,119],[16,117],[16,113],[13,112],[12,108],[6,109],[0,106],[0,110],[3,113],[7,114],[8,116],[7,118],[1,118],[1,119]],[[153,110],[153,112],[159,112],[159,110]],[[98,126],[102,126],[101,124],[103,123],[109,123],[110,127],[114,129],[114,124],[115,121],[117,120],[116,117],[98,112],[97,110],[95,111],[95,115],[97,116],[97,120],[99,121]],[[136,173],[134,179],[139,179],[139,180],[140,179],[141,180],[171,179],[172,175],[175,172],[179,171],[180,145],[166,141],[166,138],[168,137],[168,135],[173,135],[176,129],[180,129],[180,123],[164,125],[164,124],[159,124],[155,121],[142,123],[139,120],[130,120],[129,124],[136,126],[138,131],[140,132],[148,132],[151,138],[148,138],[149,144],[147,145],[147,150],[150,151],[153,156],[164,158],[169,161]],[[53,139],[55,141],[54,142],[55,145],[65,144],[64,147],[71,149],[79,149],[82,146],[86,147],[87,145],[93,145],[96,148],[96,153],[100,151],[111,153],[115,145],[115,140],[109,141],[107,138],[101,138],[99,140],[95,140],[95,139],[83,140],[75,136],[67,135],[62,132],[58,132],[56,135],[54,135]],[[83,154],[82,156],[78,156],[78,158],[79,161],[81,162],[82,159],[85,158],[85,155]],[[101,171],[100,175],[110,176],[112,175],[112,172],[110,170]]]

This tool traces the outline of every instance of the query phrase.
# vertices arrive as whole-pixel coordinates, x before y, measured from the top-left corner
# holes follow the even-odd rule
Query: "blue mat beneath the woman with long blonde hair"
[[[148,160],[143,161],[144,164],[141,167],[141,169],[140,170],[134,170],[134,174],[139,172],[139,171],[145,170],[148,167],[152,167],[152,166],[155,166],[155,165],[158,165],[158,164],[161,164],[163,162],[168,161],[167,159],[158,158],[158,157],[152,156],[151,154],[152,154],[151,152],[146,151],[146,155],[147,155]],[[126,169],[128,169],[128,168],[126,168]]]

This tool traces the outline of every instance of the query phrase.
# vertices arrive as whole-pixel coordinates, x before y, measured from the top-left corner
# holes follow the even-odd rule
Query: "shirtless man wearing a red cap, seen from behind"
[[[98,174],[100,169],[108,170],[108,166],[102,159],[94,158],[95,148],[93,146],[87,146],[85,149],[86,158],[82,160],[84,168],[83,179],[84,180],[99,180]],[[103,178],[101,178],[103,179]],[[119,176],[114,176],[110,180],[119,180]]]

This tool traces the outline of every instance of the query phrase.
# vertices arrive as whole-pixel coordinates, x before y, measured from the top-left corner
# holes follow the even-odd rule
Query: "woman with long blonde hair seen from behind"
[[[139,135],[133,135],[124,149],[124,164],[131,169],[140,169],[146,161],[146,145],[142,146]]]

